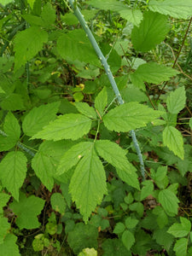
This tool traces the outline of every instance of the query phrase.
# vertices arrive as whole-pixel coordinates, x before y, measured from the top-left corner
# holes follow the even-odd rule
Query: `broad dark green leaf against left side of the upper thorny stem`
[[[100,66],[95,50],[82,29],[67,32],[57,40],[57,50],[67,61],[84,61]]]

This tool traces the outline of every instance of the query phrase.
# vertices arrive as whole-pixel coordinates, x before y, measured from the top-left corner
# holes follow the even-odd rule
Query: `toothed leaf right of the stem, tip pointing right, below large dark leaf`
[[[145,90],[144,82],[160,84],[163,81],[168,81],[175,75],[177,75],[177,71],[172,67],[159,65],[155,62],[148,62],[137,67],[137,70],[130,75],[130,78],[135,86]]]

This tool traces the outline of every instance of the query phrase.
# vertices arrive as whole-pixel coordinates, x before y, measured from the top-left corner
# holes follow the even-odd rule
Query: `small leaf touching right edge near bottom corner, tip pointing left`
[[[190,229],[191,229],[191,223],[189,219],[180,217],[181,223],[175,223],[172,224],[172,226],[167,230],[168,233],[172,234],[172,236],[175,237],[183,237],[188,236]]]

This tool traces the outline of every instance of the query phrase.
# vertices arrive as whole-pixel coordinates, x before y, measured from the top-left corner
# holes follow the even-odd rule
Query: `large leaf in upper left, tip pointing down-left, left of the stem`
[[[30,61],[43,48],[48,33],[38,26],[32,26],[15,36],[15,71]]]

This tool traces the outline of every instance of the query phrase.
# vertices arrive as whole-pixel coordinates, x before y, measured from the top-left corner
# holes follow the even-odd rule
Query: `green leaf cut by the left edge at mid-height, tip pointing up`
[[[13,113],[8,113],[3,124],[4,134],[0,134],[0,151],[13,148],[20,139],[20,125]]]

